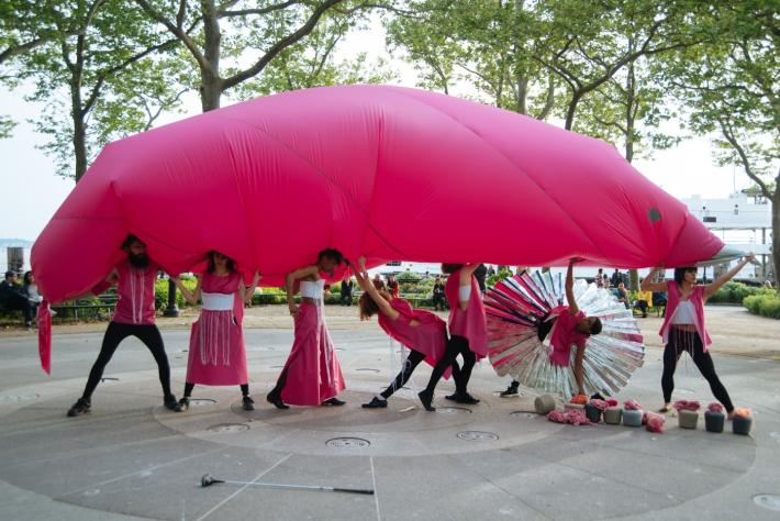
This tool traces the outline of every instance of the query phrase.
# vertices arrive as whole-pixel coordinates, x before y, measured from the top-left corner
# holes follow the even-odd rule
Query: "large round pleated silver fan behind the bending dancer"
[[[606,289],[577,280],[575,299],[588,317],[601,319],[601,334],[588,339],[584,390],[612,396],[628,383],[645,356],[642,332],[631,310]],[[577,392],[575,356],[567,367],[550,363],[549,331],[556,308],[566,300],[561,276],[527,271],[508,277],[488,289],[488,354],[499,376],[510,375],[525,387],[544,392]]]

